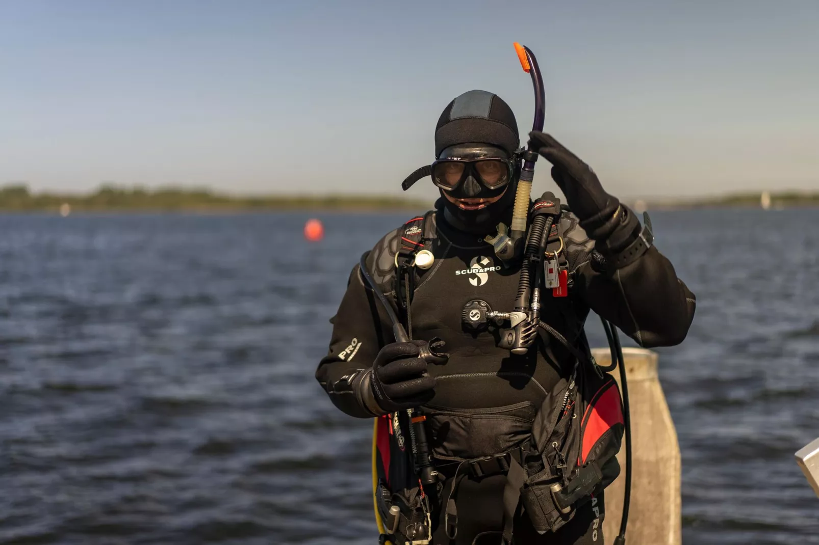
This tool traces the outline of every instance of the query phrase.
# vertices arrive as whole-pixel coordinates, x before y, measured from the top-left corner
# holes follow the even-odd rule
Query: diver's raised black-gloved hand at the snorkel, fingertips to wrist
[[[617,211],[620,201],[606,193],[588,164],[550,134],[532,131],[529,138],[529,146],[533,146],[538,154],[554,165],[552,178],[581,222],[590,219],[605,221]]]

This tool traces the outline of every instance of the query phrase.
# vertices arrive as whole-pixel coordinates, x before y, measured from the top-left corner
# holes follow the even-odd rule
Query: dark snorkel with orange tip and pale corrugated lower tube
[[[523,71],[532,76],[532,87],[535,90],[535,119],[532,122],[532,130],[542,131],[546,97],[541,69],[538,67],[537,59],[531,49],[517,42],[514,43],[514,48],[518,52],[518,60],[523,67]],[[530,144],[528,149],[523,152],[523,169],[521,169],[520,178],[518,179],[518,191],[515,192],[512,224],[509,229],[504,223],[498,224],[498,233],[495,236],[486,236],[484,239],[492,245],[495,255],[504,263],[518,258],[521,250],[523,250],[536,160],[537,151],[534,145]]]

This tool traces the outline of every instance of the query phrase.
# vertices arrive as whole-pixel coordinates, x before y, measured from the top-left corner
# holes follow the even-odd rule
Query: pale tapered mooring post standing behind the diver
[[[593,349],[601,366],[611,363],[609,349]],[[624,348],[628,394],[631,404],[631,507],[626,543],[681,545],[680,445],[657,376],[657,353],[647,349]],[[620,383],[620,372],[612,376]],[[611,545],[620,531],[624,475],[625,440],[618,454],[620,476],[605,493],[603,533]]]

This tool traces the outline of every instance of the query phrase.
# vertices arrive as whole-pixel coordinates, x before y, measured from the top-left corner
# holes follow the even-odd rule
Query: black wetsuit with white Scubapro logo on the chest
[[[568,260],[569,296],[553,298],[546,291],[542,321],[568,339],[577,340],[591,309],[640,346],[676,345],[685,338],[694,315],[695,296],[656,248],[615,272],[595,272],[590,259],[594,243],[577,218],[565,213],[560,223]],[[477,235],[455,230],[440,209],[429,215],[424,232],[432,238],[425,242],[425,248],[432,250],[435,262],[432,268],[418,271],[410,307],[411,336],[422,340],[440,337],[450,354],[446,364],[429,368],[437,383],[424,413],[436,466],[451,480],[459,460],[513,448],[531,427],[546,393],[567,373],[575,358],[545,331],[537,349],[526,356],[512,356],[497,346],[496,329],[479,333],[465,329],[461,313],[469,300],[484,300],[493,310],[511,310],[519,265],[502,268],[491,245]],[[394,258],[400,235],[399,229],[384,236],[367,262],[369,272],[390,300],[395,299]],[[372,417],[356,403],[354,395],[334,394],[332,387],[342,376],[369,367],[379,349],[394,341],[390,322],[365,288],[357,266],[332,322],[329,352],[316,377],[342,411],[354,417]],[[499,425],[507,432],[494,436]],[[490,533],[484,534],[486,542],[477,538],[475,543],[498,543],[497,532],[503,528],[504,485],[505,475],[468,475],[460,480],[455,494],[457,538],[446,538],[441,514],[439,524],[433,525],[432,543],[469,544],[483,532]],[[602,520],[600,497],[581,507],[555,534],[536,534],[526,516],[518,516],[514,538],[516,543],[603,543]]]

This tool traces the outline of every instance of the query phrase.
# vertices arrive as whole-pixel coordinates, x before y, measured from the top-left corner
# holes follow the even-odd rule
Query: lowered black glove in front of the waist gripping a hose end
[[[370,384],[375,402],[386,412],[419,407],[435,392],[435,378],[427,374],[429,363],[446,363],[449,358],[436,349],[443,341],[433,340],[432,349],[426,340],[409,340],[384,346],[373,362]]]

